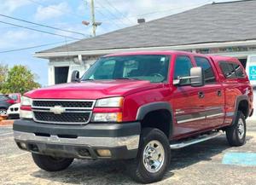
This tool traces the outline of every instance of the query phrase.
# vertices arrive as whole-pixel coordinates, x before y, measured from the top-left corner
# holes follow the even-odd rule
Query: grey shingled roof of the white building
[[[256,1],[211,3],[38,53],[131,49],[256,38]]]

